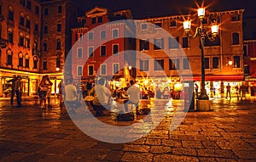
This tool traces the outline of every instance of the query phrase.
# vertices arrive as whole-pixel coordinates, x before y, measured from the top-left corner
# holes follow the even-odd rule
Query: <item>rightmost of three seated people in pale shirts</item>
[[[135,85],[133,80],[130,81],[130,87],[127,90],[128,100],[124,101],[125,111],[128,112],[128,104],[135,104],[136,113],[138,115],[138,103],[140,102],[140,88]]]

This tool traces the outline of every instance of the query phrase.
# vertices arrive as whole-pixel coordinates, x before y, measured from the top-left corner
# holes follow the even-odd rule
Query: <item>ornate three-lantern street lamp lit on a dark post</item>
[[[209,39],[210,41],[214,41],[217,34],[218,34],[218,25],[214,24],[211,26],[212,30],[212,36],[209,36],[207,34],[207,28],[203,26],[203,20],[205,17],[205,8],[198,8],[197,14],[200,19],[200,26],[196,27],[195,35],[190,34],[190,28],[191,28],[191,20],[185,20],[183,21],[183,28],[189,38],[195,39],[197,36],[200,37],[200,48],[201,48],[201,92],[198,99],[200,100],[208,100],[209,97],[207,96],[206,91],[206,83],[205,83],[205,58],[204,58],[204,43],[205,39]]]

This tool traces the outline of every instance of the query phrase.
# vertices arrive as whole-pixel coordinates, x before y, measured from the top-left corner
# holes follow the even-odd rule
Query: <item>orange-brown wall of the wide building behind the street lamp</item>
[[[243,74],[243,50],[242,50],[242,10],[237,11],[228,11],[228,12],[219,12],[219,13],[212,13],[208,14],[207,17],[210,20],[210,17],[216,17],[218,19],[219,24],[219,33],[218,36],[220,37],[220,44],[218,46],[210,46],[210,47],[204,47],[204,54],[205,58],[209,58],[210,62],[210,68],[206,69],[207,75],[242,75]],[[232,15],[239,15],[240,20],[237,21],[231,21]],[[192,18],[192,34],[195,33],[195,27],[200,25],[200,22],[198,19]],[[172,21],[176,21],[176,26],[170,26]],[[169,58],[166,58],[164,50],[172,53],[173,59],[183,59],[179,58],[179,53],[182,53],[181,50],[187,55],[189,58],[189,64],[190,68],[193,72],[193,75],[201,75],[201,49],[199,37],[195,39],[189,39],[189,47],[183,47],[183,37],[187,37],[185,34],[185,31],[183,30],[183,16],[170,16],[170,17],[160,17],[160,18],[154,18],[154,19],[146,19],[141,20],[139,24],[142,24],[143,22],[150,22],[153,24],[161,23],[162,28],[170,33],[173,37],[178,36],[178,43],[180,44],[181,49],[169,49],[168,47],[168,36],[160,36],[160,33],[157,30],[141,30],[141,25],[137,25],[138,31],[137,36],[144,36],[145,39],[150,39],[151,41],[154,40],[154,38],[161,38],[164,37],[164,48],[154,50],[154,44],[149,44],[149,50],[143,51],[143,53],[147,53],[149,56],[151,56],[154,59],[165,59],[165,73],[166,75],[173,75],[177,74],[177,72],[172,72],[169,70]],[[207,24],[208,28],[210,28],[210,22]],[[153,27],[154,28],[154,27]],[[209,31],[209,30],[208,30]],[[232,40],[232,33],[239,33],[239,43],[236,45],[233,45]],[[140,51],[140,44],[139,40],[137,40],[137,51]],[[240,67],[236,68],[233,65],[226,65],[228,62],[228,59],[233,61],[234,63],[234,56],[240,57]],[[218,69],[212,69],[212,57],[218,57],[219,58],[219,68]],[[138,63],[139,61],[137,61]],[[153,62],[152,62],[153,63]],[[153,65],[151,63],[151,65]],[[137,64],[137,67],[139,67],[139,64]],[[154,71],[153,71],[154,72]],[[155,71],[158,73],[158,71]],[[186,70],[183,70],[183,61],[180,61],[180,74],[185,75]]]

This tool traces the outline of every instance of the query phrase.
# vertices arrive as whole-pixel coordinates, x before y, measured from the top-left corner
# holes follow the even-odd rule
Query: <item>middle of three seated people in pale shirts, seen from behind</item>
[[[111,93],[105,87],[104,78],[99,79],[98,84],[90,90],[89,95],[94,96],[92,107],[96,111],[96,116],[102,116],[103,110],[108,106],[109,99],[111,98]]]

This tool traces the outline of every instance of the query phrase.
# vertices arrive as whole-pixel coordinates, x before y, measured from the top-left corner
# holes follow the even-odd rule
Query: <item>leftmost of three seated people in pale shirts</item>
[[[68,79],[66,83],[67,85],[64,87],[65,102],[67,103],[70,112],[74,114],[74,107],[79,103],[77,87],[73,85],[73,78]]]

